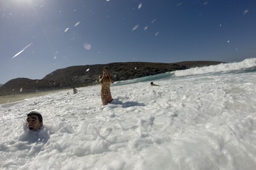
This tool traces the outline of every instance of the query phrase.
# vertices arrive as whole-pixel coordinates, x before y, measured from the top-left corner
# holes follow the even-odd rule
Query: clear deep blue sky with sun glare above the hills
[[[254,58],[255,7],[255,0],[0,0],[0,84],[73,65]]]

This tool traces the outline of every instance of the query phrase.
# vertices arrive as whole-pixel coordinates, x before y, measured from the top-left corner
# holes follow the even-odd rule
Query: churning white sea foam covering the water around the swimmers
[[[0,107],[0,169],[255,169],[255,71],[152,81],[112,85],[107,106],[96,85]],[[30,111],[44,119],[35,134]]]

